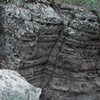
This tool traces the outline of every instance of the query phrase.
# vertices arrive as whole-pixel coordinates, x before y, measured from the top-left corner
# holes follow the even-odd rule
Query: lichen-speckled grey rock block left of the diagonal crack
[[[41,3],[25,4],[23,8],[13,4],[2,7],[7,65],[19,69],[21,75],[38,86],[44,77],[44,64],[60,37],[62,20],[49,5]]]

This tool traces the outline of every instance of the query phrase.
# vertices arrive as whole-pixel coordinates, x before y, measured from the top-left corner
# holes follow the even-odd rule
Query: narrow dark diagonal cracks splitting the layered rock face
[[[52,47],[50,48],[51,50],[50,50],[50,52],[49,52],[49,54],[48,54],[47,61],[46,61],[46,63],[44,64],[44,68],[43,68],[43,70],[42,70],[42,73],[43,73],[43,74],[45,74],[45,72],[47,71],[47,68],[46,68],[46,67],[47,67],[47,65],[48,65],[48,63],[49,63],[50,57],[52,56],[52,52],[53,52],[54,49],[56,48],[56,45],[57,45],[57,43],[58,43],[60,37],[62,36],[62,30],[63,30],[63,25],[62,25],[61,30],[58,32],[58,37],[57,37],[57,39],[55,40],[54,44],[53,44]],[[61,45],[61,46],[62,46],[62,45]],[[56,58],[57,58],[57,56],[59,55],[59,52],[60,52],[60,49],[58,50],[58,52],[57,52],[56,55],[54,56],[55,58],[54,58],[53,60],[54,60],[55,63],[56,63],[56,60],[57,60]],[[48,65],[48,67],[49,67],[49,65]],[[42,81],[40,82],[40,87],[42,86],[42,89],[43,89],[43,90],[44,90],[44,88],[48,87],[48,85],[49,85],[49,83],[50,83],[50,81],[51,81],[51,79],[52,79],[52,77],[53,77],[53,74],[54,74],[55,69],[56,69],[56,66],[54,66],[54,68],[53,68],[53,70],[52,70],[52,74],[49,76],[48,80],[46,79],[47,82],[46,82],[46,80],[44,80],[45,76],[42,75],[42,77],[41,77]],[[45,82],[45,83],[44,83],[44,82]],[[41,85],[41,84],[43,84],[43,85]]]

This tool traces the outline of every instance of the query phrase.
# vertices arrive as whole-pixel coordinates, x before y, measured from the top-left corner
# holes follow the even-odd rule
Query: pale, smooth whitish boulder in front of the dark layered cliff
[[[0,70],[0,100],[39,100],[40,94],[17,72]]]

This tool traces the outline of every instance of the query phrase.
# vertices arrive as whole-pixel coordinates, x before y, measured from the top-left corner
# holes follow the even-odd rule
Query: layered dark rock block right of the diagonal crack
[[[62,4],[60,12],[65,28],[57,43],[61,43],[59,53],[53,51],[46,65],[46,75],[50,77],[45,96],[50,100],[100,100],[98,17],[85,8],[68,4]]]

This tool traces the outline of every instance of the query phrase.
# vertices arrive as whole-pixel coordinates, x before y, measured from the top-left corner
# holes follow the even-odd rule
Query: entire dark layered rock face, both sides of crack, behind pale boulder
[[[100,100],[100,23],[91,11],[62,4],[3,5],[6,62],[42,100]]]

